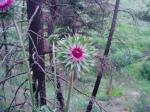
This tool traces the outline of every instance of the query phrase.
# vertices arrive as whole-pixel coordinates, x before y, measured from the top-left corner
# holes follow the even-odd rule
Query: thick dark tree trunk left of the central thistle
[[[45,90],[45,65],[44,65],[44,39],[40,34],[43,29],[42,24],[42,0],[27,0],[27,14],[30,20],[34,15],[29,27],[29,62],[33,72],[33,92],[35,93],[37,105],[46,105],[46,90]]]

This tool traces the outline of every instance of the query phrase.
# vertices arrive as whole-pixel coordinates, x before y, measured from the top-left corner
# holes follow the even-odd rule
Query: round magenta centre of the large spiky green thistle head
[[[73,62],[83,61],[85,59],[84,49],[80,46],[74,46],[70,49],[69,56]]]

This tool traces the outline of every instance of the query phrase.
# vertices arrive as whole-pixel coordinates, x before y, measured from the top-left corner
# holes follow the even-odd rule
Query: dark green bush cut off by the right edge
[[[142,64],[140,75],[150,81],[150,60],[147,60]]]

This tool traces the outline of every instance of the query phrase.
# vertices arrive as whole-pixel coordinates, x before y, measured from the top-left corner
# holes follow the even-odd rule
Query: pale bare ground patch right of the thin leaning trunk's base
[[[130,91],[127,95],[112,96],[108,101],[100,101],[100,104],[107,112],[131,112],[127,104],[133,102],[132,104],[134,105],[140,98],[140,95],[137,91]]]

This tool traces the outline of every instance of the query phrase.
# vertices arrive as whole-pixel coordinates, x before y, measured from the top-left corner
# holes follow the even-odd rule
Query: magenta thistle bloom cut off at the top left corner
[[[13,2],[14,0],[0,0],[0,11],[9,9],[12,6]]]

